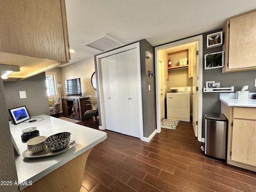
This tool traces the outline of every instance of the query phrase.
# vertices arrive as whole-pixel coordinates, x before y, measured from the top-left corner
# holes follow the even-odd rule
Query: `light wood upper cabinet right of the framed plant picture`
[[[256,10],[228,18],[224,26],[222,72],[256,69]]]

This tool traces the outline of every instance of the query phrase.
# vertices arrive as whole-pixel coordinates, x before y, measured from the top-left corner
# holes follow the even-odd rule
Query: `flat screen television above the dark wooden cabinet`
[[[80,78],[65,80],[66,96],[82,96]]]

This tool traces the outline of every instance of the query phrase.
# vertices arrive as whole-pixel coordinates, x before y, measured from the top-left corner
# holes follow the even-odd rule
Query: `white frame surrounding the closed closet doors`
[[[105,130],[106,129],[106,121],[105,121],[105,108],[104,108],[104,99],[103,99],[103,88],[102,88],[102,74],[101,74],[101,67],[100,67],[100,59],[110,56],[110,55],[114,55],[114,54],[118,54],[120,52],[124,52],[124,51],[128,51],[131,49],[137,48],[137,56],[138,56],[138,79],[139,79],[139,85],[141,87],[141,68],[140,68],[140,43],[134,43],[134,44],[130,44],[128,46],[124,46],[100,55],[96,56],[96,64],[97,64],[97,74],[98,74],[98,91],[99,91],[99,99],[100,99],[100,117],[101,117],[101,123],[102,126],[99,127],[99,129],[101,130]],[[138,106],[138,110],[140,113],[140,139],[143,140],[143,120],[142,120],[142,90],[139,89],[139,106]]]

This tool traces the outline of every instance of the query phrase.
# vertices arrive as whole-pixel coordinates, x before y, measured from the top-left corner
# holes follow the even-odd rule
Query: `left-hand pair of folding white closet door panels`
[[[120,133],[116,55],[100,59],[106,129]]]

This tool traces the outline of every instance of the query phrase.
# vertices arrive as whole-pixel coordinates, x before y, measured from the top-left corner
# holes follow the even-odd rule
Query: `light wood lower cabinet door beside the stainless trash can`
[[[256,166],[256,121],[234,119],[231,159]]]

